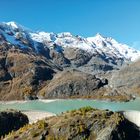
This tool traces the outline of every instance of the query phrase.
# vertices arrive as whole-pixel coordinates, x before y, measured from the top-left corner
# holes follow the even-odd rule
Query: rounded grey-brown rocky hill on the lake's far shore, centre
[[[45,98],[82,97],[94,95],[96,89],[106,84],[107,81],[102,81],[94,75],[74,69],[64,70],[54,76],[51,82],[40,91],[40,95],[44,95]]]

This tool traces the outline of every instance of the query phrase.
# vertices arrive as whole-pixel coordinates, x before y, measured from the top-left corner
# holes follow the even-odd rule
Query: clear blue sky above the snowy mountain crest
[[[101,33],[140,49],[140,0],[0,0],[0,22],[30,29]]]

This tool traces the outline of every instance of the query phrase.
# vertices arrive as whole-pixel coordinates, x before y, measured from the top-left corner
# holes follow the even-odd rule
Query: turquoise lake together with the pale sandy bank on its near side
[[[12,104],[13,103],[13,104]],[[106,100],[93,99],[57,99],[57,100],[32,100],[32,101],[14,101],[0,104],[0,110],[18,110],[25,113],[30,120],[30,123],[45,117],[59,115],[62,112],[79,109],[86,106],[91,106],[100,110],[111,111],[140,111],[140,98],[131,100],[130,102],[110,102]]]

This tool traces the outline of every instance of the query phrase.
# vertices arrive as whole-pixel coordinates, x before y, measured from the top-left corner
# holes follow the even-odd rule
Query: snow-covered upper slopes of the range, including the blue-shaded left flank
[[[140,57],[140,51],[100,34],[84,38],[72,35],[69,32],[59,34],[33,32],[15,22],[1,23],[0,34],[1,38],[3,37],[8,43],[17,45],[22,49],[30,46],[37,53],[39,53],[41,47],[50,49],[55,46],[55,48],[59,47],[59,51],[67,48],[80,49],[94,55],[101,54],[105,59],[134,61]],[[3,40],[1,39],[0,44],[2,43]],[[41,47],[38,45],[40,43],[43,44]]]

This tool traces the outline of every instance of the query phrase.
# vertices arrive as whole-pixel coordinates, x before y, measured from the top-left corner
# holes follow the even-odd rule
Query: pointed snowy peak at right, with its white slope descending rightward
[[[98,50],[108,52],[116,57],[125,57],[128,60],[134,61],[140,57],[140,51],[129,47],[126,44],[118,43],[111,37],[103,37],[99,33],[95,37],[88,37],[87,40],[96,45]]]

